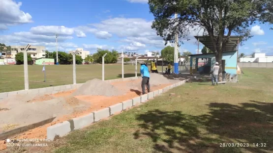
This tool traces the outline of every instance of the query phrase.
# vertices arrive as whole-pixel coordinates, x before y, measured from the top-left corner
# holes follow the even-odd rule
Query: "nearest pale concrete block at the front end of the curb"
[[[47,138],[53,141],[56,135],[62,137],[69,133],[70,131],[71,131],[70,123],[68,121],[64,121],[62,123],[58,123],[56,125],[48,127]]]

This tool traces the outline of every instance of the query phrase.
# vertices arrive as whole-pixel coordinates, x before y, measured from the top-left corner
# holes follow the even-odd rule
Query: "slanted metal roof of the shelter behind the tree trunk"
[[[199,39],[199,42],[202,43],[203,45],[205,45],[211,51],[215,51],[210,36],[194,36],[194,37],[197,40]],[[227,38],[227,36],[223,37],[223,42],[226,40],[226,38]],[[239,39],[240,39],[240,36],[230,36],[229,41],[227,42],[225,48],[223,49],[223,52],[236,51]]]

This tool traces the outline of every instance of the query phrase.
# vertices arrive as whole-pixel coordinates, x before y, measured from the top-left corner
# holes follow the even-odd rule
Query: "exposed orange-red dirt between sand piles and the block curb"
[[[116,86],[119,89],[125,89],[126,87],[126,83],[136,83],[136,84],[140,84],[139,80],[132,80],[132,81],[122,81],[122,82],[113,82],[111,83],[112,85]],[[168,86],[170,84],[161,84],[158,86],[151,86],[151,91],[154,90],[158,90],[158,89],[162,89],[166,86]],[[67,92],[60,92],[57,94],[54,94],[52,96],[54,97],[66,97],[69,96],[71,93],[73,93],[75,90],[71,90],[71,91],[67,91]],[[57,123],[61,123],[63,121],[67,121],[69,119],[75,118],[75,117],[79,117],[79,116],[83,116],[85,114],[91,113],[93,111],[99,110],[101,108],[104,107],[108,107],[111,106],[113,104],[119,103],[119,102],[123,102],[125,100],[128,99],[132,99],[134,97],[139,96],[139,94],[141,94],[141,92],[137,89],[135,90],[129,90],[126,95],[122,95],[122,96],[112,96],[112,97],[106,97],[106,96],[76,96],[75,98],[77,98],[78,100],[82,100],[82,101],[86,101],[86,102],[91,102],[91,107],[87,110],[84,111],[77,111],[74,112],[72,114],[69,115],[65,115],[61,118],[58,118],[57,121],[46,124],[44,126],[38,127],[38,128],[34,128],[34,129],[30,129],[24,133],[21,133],[17,136],[15,136],[15,138],[34,138],[34,139],[43,139],[47,137],[47,128],[55,125]],[[48,97],[48,96],[47,96]]]

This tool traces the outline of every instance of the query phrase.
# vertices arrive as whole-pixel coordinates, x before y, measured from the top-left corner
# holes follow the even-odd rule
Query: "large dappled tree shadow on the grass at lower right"
[[[208,105],[209,114],[200,116],[161,110],[140,114],[137,120],[143,124],[134,133],[135,139],[142,135],[151,137],[154,150],[162,153],[273,152],[272,103]],[[239,143],[245,147],[220,147],[221,143]],[[256,143],[266,147],[253,147]]]

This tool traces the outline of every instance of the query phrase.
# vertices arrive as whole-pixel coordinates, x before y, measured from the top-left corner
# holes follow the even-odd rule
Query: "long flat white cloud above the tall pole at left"
[[[74,29],[65,26],[36,26],[31,27],[30,32],[43,35],[73,35]]]

